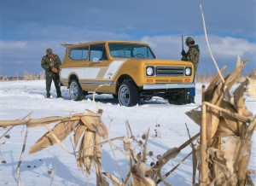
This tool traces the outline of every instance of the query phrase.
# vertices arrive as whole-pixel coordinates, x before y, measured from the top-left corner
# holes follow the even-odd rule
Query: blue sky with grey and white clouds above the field
[[[63,60],[62,43],[142,41],[158,58],[179,60],[182,35],[201,49],[198,73],[215,73],[200,4],[218,67],[230,73],[239,55],[248,61],[243,73],[250,73],[256,68],[255,0],[0,0],[0,76],[42,73],[47,48]]]

